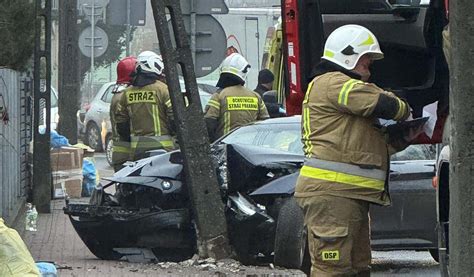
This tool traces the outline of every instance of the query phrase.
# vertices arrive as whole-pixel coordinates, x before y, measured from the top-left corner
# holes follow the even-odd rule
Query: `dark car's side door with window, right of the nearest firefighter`
[[[392,204],[370,207],[374,247],[436,247],[436,197],[432,187],[435,158],[435,146],[431,145],[411,145],[392,156],[389,183]]]

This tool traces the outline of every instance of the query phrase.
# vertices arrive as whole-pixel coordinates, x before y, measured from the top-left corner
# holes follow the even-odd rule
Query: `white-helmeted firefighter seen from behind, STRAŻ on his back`
[[[137,57],[135,78],[120,98],[116,127],[120,139],[131,142],[131,160],[148,156],[148,151],[176,148],[173,111],[168,86],[163,78],[161,56],[144,51]]]

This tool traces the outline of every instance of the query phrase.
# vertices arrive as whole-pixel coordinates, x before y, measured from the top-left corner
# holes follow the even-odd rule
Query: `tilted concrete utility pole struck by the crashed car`
[[[224,203],[216,171],[210,157],[209,137],[202,114],[190,43],[179,1],[152,0],[160,50],[165,62],[166,81],[173,104],[179,146],[184,160],[185,179],[196,222],[201,257],[226,258],[230,254]],[[171,42],[166,10],[169,10],[176,48]],[[186,107],[178,80],[181,67],[186,84]]]

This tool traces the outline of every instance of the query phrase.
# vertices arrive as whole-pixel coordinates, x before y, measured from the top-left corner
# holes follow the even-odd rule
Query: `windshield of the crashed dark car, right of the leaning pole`
[[[253,124],[241,127],[222,140],[226,144],[254,145],[303,155],[299,124]]]

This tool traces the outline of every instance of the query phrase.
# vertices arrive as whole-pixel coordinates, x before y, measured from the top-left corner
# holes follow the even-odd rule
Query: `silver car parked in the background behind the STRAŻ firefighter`
[[[203,90],[201,86],[205,86],[206,90]],[[104,84],[99,92],[90,103],[90,106],[85,113],[83,126],[85,128],[84,142],[96,151],[106,151],[107,161],[111,163],[112,157],[112,126],[110,124],[110,102],[112,100],[112,91],[115,87],[114,82]],[[184,85],[181,86],[184,88]],[[210,85],[200,85],[199,96],[201,98],[201,104],[204,106],[209,101],[211,94],[207,91],[210,90]],[[214,87],[215,88],[215,87]],[[78,117],[80,118],[80,112]]]

